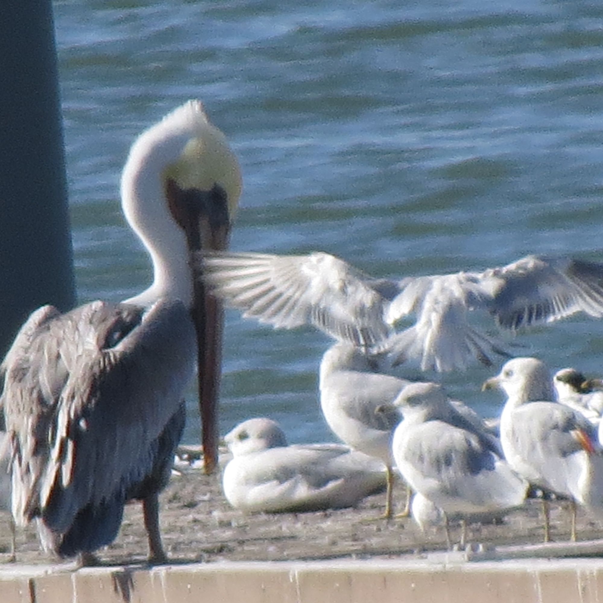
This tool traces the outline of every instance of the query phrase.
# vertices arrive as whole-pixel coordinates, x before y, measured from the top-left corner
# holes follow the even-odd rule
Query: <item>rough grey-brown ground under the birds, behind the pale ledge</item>
[[[405,488],[397,485],[396,500],[402,508]],[[331,558],[396,558],[417,556],[446,548],[443,529],[425,534],[412,519],[378,519],[385,494],[367,497],[357,508],[314,513],[246,515],[230,508],[221,493],[219,476],[200,470],[184,470],[172,476],[161,497],[163,542],[173,563],[219,560],[318,560]],[[500,525],[474,525],[469,537],[474,543],[509,545],[538,543],[542,538],[540,503],[528,501]],[[552,539],[569,538],[569,512],[552,506]],[[0,516],[0,562],[8,561],[10,532],[8,516]],[[453,532],[459,534],[459,531]],[[603,522],[578,515],[578,538],[603,538]],[[147,540],[139,504],[128,505],[115,543],[98,551],[103,564],[144,562]],[[17,561],[48,563],[39,551],[35,529],[17,534]]]

